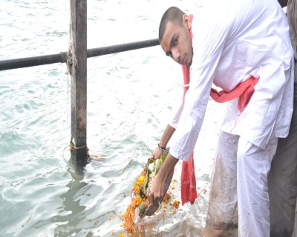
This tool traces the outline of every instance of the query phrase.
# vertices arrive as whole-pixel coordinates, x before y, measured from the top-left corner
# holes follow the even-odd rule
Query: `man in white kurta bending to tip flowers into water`
[[[287,136],[293,111],[293,51],[287,18],[276,0],[208,1],[192,14],[192,23],[184,15],[180,31],[175,23],[167,23],[159,37],[166,55],[190,66],[190,83],[184,105],[160,140],[164,148],[170,139],[170,158],[154,181],[151,199],[163,195],[163,181],[176,159],[189,159],[212,84],[230,92],[254,76],[259,81],[244,111],[237,109],[238,98],[228,102],[206,225],[228,229],[238,221],[241,237],[269,236],[267,174],[277,138]],[[181,45],[188,37],[183,27],[193,34],[192,55],[183,51],[186,43]],[[156,149],[153,156],[158,158],[159,153]]]

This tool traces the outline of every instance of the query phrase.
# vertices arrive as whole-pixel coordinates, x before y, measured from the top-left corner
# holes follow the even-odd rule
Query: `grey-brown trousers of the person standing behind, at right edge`
[[[297,237],[297,71],[294,109],[288,137],[280,138],[268,174],[271,237]],[[295,228],[294,228],[295,219]],[[294,230],[295,229],[295,230]],[[294,230],[294,234],[292,232]]]

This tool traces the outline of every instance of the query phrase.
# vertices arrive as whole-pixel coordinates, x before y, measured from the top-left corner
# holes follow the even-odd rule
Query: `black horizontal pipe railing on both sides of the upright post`
[[[124,52],[128,50],[141,49],[146,47],[152,47],[159,45],[159,39],[144,40],[138,42],[132,42],[127,44],[118,44],[94,49],[87,50],[87,57],[96,57],[107,54],[113,54],[118,52]],[[15,68],[26,68],[38,65],[45,65],[51,63],[66,63],[67,52],[61,52],[59,54],[43,55],[36,57],[17,58],[10,60],[0,61],[0,71],[15,69]]]

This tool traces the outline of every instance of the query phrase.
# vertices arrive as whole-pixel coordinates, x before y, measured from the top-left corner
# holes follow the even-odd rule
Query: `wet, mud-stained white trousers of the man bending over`
[[[236,228],[240,237],[269,237],[267,175],[277,148],[272,137],[261,149],[243,137],[220,132],[206,225]]]

